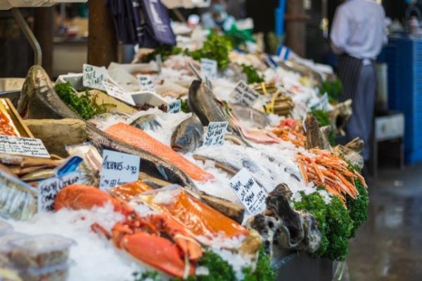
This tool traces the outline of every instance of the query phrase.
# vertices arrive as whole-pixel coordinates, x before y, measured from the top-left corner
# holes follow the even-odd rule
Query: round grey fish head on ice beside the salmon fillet
[[[204,127],[196,115],[180,123],[172,133],[174,151],[192,152],[203,144]]]

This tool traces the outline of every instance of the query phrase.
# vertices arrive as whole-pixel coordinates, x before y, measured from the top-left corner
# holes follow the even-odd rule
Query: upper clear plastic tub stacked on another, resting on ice
[[[58,235],[37,235],[10,242],[11,261],[21,268],[44,268],[64,264],[74,240]]]

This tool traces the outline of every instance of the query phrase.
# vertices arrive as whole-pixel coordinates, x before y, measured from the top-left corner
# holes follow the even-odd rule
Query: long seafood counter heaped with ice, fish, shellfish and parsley
[[[0,96],[3,280],[275,280],[293,252],[345,260],[368,206],[364,144],[335,144],[352,101],[319,91],[335,77],[318,65],[222,40],[56,82],[35,65],[18,104]]]

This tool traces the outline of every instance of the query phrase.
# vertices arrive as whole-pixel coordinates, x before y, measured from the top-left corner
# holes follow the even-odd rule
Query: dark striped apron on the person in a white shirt
[[[362,156],[370,158],[370,140],[376,100],[376,65],[373,60],[362,60],[348,55],[338,59],[338,77],[343,82],[340,101],[352,99],[353,114],[346,126],[347,141],[360,137],[365,142]]]

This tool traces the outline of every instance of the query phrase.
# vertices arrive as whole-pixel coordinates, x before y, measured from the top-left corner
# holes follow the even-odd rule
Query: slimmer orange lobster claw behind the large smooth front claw
[[[186,231],[186,227],[170,216],[158,214],[145,218],[158,229],[172,237],[174,242],[183,251],[190,261],[197,261],[202,256],[202,247]]]

